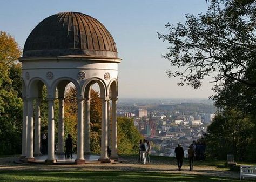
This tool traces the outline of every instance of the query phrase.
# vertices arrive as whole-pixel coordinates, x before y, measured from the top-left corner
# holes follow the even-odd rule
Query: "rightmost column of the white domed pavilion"
[[[117,156],[117,99],[112,99],[112,152],[111,158],[118,160]]]

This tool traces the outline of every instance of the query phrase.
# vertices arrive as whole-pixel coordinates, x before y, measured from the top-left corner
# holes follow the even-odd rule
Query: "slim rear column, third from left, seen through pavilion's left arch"
[[[40,126],[41,126],[41,116],[40,116],[40,104],[41,99],[36,99],[35,108],[35,156],[41,156],[40,152]]]

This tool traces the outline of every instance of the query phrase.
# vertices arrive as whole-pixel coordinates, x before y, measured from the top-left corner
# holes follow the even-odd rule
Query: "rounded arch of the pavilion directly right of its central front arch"
[[[84,95],[84,98],[90,98],[91,86],[95,83],[99,85],[100,98],[105,99],[108,96],[107,86],[102,79],[97,77],[87,79],[86,82],[84,83],[82,87],[82,93]]]

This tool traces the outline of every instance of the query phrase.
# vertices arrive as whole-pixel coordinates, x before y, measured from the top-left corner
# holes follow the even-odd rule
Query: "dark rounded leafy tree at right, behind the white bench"
[[[205,140],[207,152],[211,157],[226,159],[234,154],[236,160],[251,160],[255,156],[255,124],[253,119],[236,110],[218,112],[207,127]]]

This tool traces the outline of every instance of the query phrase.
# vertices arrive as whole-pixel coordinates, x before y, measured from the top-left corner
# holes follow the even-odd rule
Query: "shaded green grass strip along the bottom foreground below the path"
[[[195,174],[172,174],[136,171],[1,171],[0,181],[239,181],[238,179],[202,176]]]

